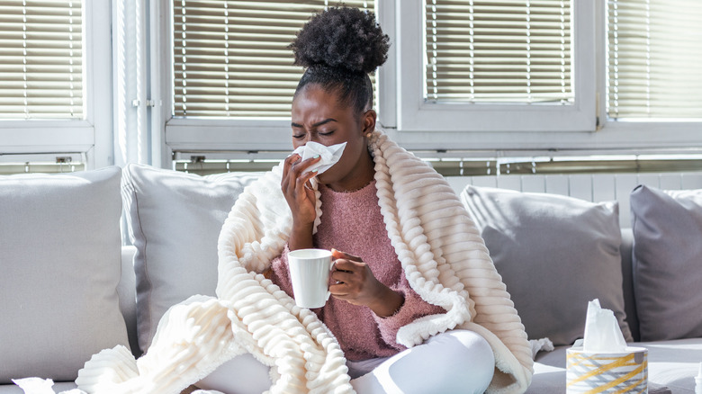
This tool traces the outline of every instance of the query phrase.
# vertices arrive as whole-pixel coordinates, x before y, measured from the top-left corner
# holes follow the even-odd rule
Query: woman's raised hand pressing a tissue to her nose
[[[284,161],[281,189],[293,211],[293,231],[295,228],[310,227],[317,218],[317,197],[312,190],[310,180],[317,175],[316,171],[304,174],[311,165],[320,161],[320,157],[312,157],[302,161],[302,157],[293,154]]]

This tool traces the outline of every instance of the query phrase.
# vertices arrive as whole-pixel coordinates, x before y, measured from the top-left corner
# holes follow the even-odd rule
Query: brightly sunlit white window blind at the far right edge
[[[608,0],[610,118],[702,118],[702,2]]]

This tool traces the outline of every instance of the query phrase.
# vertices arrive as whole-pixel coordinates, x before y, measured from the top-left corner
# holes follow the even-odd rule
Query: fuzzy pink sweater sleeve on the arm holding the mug
[[[374,318],[380,329],[383,341],[388,345],[392,345],[392,347],[404,350],[405,347],[397,343],[397,332],[402,326],[428,315],[446,313],[446,309],[422,300],[419,294],[412,290],[404,275],[402,275],[401,282],[397,286],[391,287],[391,289],[400,292],[405,299],[400,309],[387,318],[380,318],[376,315],[374,315]]]

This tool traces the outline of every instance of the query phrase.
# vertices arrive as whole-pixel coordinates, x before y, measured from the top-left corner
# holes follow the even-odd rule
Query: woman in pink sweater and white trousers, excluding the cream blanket
[[[314,16],[291,47],[295,63],[306,67],[293,99],[293,148],[310,141],[325,146],[346,142],[347,146],[338,163],[320,175],[307,171],[320,157],[302,161],[299,155],[292,155],[284,160],[281,188],[292,226],[283,253],[266,267],[266,276],[293,297],[287,253],[310,247],[333,251],[332,297],[314,313],[336,337],[348,374],[354,378],[350,383],[358,392],[484,392],[493,381],[493,352],[502,357],[503,350],[493,349],[475,331],[446,331],[453,328],[446,327],[451,323],[427,324],[419,329],[423,331],[421,345],[416,345],[416,338],[398,342],[401,327],[422,324],[422,318],[446,316],[446,309],[412,289],[386,228],[389,220],[385,219],[390,218],[383,218],[379,201],[376,183],[378,179],[384,182],[387,174],[377,174],[376,169],[383,173],[383,165],[374,161],[369,145],[384,136],[375,131],[368,73],[383,64],[387,36],[373,13],[330,8]],[[418,198],[425,197],[419,193]],[[432,294],[427,291],[427,295]],[[460,309],[451,308],[451,301],[446,307]],[[505,324],[516,324],[523,334],[514,318]],[[526,344],[526,335],[522,339]],[[409,345],[414,346],[408,349]],[[500,384],[504,383],[496,382],[494,388]],[[221,388],[206,382],[202,386]]]

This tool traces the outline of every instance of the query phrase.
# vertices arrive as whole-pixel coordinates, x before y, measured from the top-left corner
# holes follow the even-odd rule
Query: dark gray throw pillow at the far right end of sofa
[[[642,341],[702,336],[702,189],[630,196]]]

